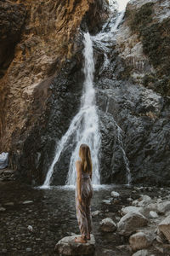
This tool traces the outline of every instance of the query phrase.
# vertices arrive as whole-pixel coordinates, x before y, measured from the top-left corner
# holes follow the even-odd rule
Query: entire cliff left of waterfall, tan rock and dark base
[[[75,90],[79,96],[82,90],[76,86],[82,77],[81,29],[89,26],[91,32],[99,31],[108,4],[100,0],[7,0],[0,3],[0,9],[0,151],[9,151],[11,166],[24,168],[31,179],[39,159],[37,140],[43,141],[51,112],[61,108],[57,123],[65,131],[78,108],[79,100],[73,102],[69,94]],[[55,84],[58,77],[59,84]],[[25,160],[20,154],[26,154]]]

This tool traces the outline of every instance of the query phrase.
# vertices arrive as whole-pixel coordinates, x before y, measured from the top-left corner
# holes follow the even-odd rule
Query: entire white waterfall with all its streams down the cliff
[[[70,167],[66,184],[74,185],[76,183],[76,167],[75,161],[78,157],[78,150],[82,143],[87,143],[91,149],[92,161],[93,161],[93,178],[94,184],[99,184],[99,146],[100,146],[100,135],[99,135],[99,119],[97,109],[95,105],[95,90],[94,90],[94,52],[93,42],[98,46],[99,49],[104,51],[105,62],[103,69],[109,65],[108,53],[111,50],[110,44],[115,40],[114,34],[117,31],[118,26],[121,24],[127,2],[129,0],[109,0],[111,11],[117,9],[116,19],[111,16],[111,19],[103,26],[101,32],[94,37],[90,37],[89,33],[84,34],[84,89],[82,94],[81,108],[77,115],[72,119],[71,125],[66,131],[65,135],[61,138],[56,150],[53,163],[48,169],[47,177],[41,188],[48,188],[54,172],[54,166],[58,162],[60,154],[65,150],[65,146],[68,143],[71,136],[74,137],[73,144],[76,143],[76,148],[73,149],[71,154]],[[116,7],[117,3],[117,7]],[[117,127],[119,127],[117,125]],[[123,149],[122,136],[120,130],[117,131],[118,142],[122,148],[123,160],[127,168],[127,183],[130,183],[130,169],[128,167],[128,160]]]

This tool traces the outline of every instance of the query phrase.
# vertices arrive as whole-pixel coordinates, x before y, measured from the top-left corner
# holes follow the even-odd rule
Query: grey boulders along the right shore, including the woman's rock
[[[153,196],[156,190],[157,195]],[[111,197],[102,202],[104,206],[117,206],[121,201],[122,193],[112,191]],[[128,206],[122,206],[114,213],[108,209],[105,209],[105,214],[99,210],[92,212],[94,219],[106,217],[99,222],[101,232],[108,234],[108,237],[114,234],[118,240],[122,240],[122,244],[116,246],[120,254],[108,250],[102,255],[170,255],[170,188],[134,186],[126,201]],[[58,252],[63,252],[62,255],[82,255],[84,247],[84,254],[91,255],[90,242],[81,244],[78,249],[72,240],[73,236],[61,239],[56,244]]]

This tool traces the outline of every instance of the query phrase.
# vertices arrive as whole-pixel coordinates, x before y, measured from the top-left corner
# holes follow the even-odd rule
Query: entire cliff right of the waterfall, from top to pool
[[[97,74],[108,182],[126,181],[128,160],[133,183],[169,184],[169,17],[169,1],[127,3],[109,68]]]

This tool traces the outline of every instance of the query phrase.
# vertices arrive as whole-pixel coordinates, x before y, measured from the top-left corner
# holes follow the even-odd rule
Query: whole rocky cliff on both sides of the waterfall
[[[80,105],[82,31],[99,32],[108,4],[6,0],[0,8],[0,150],[24,181],[42,183]],[[169,184],[169,10],[166,0],[131,0],[107,67],[94,45],[102,183],[126,183],[130,168],[133,183]],[[71,150],[70,142],[54,184],[65,183]]]

